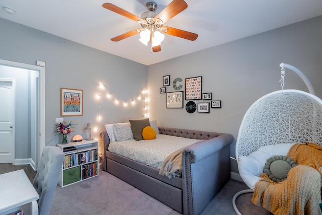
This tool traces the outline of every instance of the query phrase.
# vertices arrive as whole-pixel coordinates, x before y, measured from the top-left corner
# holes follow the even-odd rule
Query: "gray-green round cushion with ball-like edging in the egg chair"
[[[292,167],[297,166],[297,163],[286,156],[274,156],[266,160],[264,173],[275,182],[281,182],[287,179],[288,172]]]

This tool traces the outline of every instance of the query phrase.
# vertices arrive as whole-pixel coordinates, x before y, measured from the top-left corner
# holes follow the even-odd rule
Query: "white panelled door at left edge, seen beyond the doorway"
[[[15,161],[14,80],[0,79],[0,163]]]

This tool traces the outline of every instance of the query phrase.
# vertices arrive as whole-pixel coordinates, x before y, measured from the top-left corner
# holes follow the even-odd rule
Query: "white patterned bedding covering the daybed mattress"
[[[111,141],[108,150],[133,161],[160,169],[162,162],[168,155],[200,141],[202,140],[156,134],[156,138],[153,140]]]

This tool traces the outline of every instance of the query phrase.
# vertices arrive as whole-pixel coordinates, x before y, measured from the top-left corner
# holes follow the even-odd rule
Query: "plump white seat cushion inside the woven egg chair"
[[[294,144],[276,144],[259,148],[249,156],[238,157],[238,171],[246,185],[254,189],[258,176],[264,172],[266,160],[275,155],[286,156]]]

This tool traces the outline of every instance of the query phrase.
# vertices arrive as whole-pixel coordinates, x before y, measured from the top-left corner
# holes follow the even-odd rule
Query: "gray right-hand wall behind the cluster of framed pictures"
[[[322,17],[317,17],[148,66],[150,117],[162,126],[231,133],[236,139],[251,104],[281,89],[281,62],[299,68],[310,80],[315,94],[322,98],[321,26]],[[172,81],[176,78],[185,81],[202,76],[203,93],[212,93],[212,100],[221,100],[222,108],[193,114],[185,109],[167,109],[166,94],[159,93],[166,75],[171,79],[167,92],[175,91]],[[308,91],[291,70],[286,70],[284,89]],[[235,157],[235,141],[230,154]],[[236,162],[231,161],[232,171],[237,172]]]

